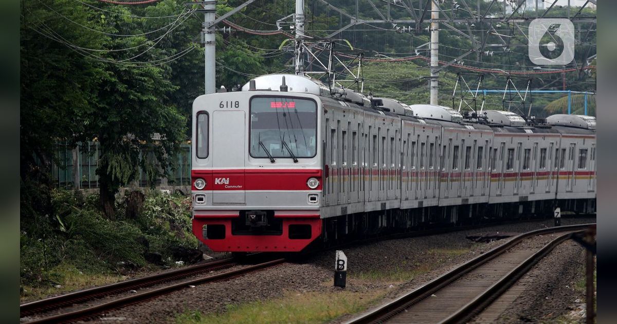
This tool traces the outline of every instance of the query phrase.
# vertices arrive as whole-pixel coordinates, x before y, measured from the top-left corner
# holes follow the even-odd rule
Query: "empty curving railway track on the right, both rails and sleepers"
[[[464,323],[490,305],[572,233],[594,225],[560,226],[523,233],[349,323]],[[551,233],[563,235],[542,247],[512,249],[526,239]]]

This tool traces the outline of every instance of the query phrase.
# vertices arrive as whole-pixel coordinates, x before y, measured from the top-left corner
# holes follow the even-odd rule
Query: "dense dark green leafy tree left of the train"
[[[159,64],[171,57],[159,36],[172,31],[145,33],[147,19],[126,7],[104,10],[22,1],[22,104],[30,107],[21,115],[22,175],[35,165],[31,152],[48,160],[57,139],[96,138],[101,207],[113,218],[115,193],[140,168],[152,184],[167,175],[186,123]]]

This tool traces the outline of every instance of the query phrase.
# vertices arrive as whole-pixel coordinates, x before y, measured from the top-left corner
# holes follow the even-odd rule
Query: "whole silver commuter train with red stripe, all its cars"
[[[595,212],[595,118],[443,106],[264,75],[193,104],[193,232],[298,252],[392,231]]]

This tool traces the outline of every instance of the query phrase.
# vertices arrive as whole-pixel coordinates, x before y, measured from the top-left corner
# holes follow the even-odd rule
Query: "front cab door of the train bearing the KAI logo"
[[[246,120],[243,111],[215,111],[212,117],[212,167],[225,168],[215,177],[213,204],[245,202],[244,162],[246,161]],[[233,186],[233,189],[229,189]]]

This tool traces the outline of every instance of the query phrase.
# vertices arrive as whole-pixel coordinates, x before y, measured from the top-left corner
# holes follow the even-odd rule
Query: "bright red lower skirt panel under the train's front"
[[[230,215],[194,215],[193,234],[206,246],[215,252],[299,252],[315,241],[321,235],[321,218],[318,214],[292,214],[280,216],[283,220],[282,235],[232,235],[231,218],[239,214]],[[225,238],[204,238],[204,225],[225,225]],[[309,239],[290,239],[289,225],[311,225]]]

